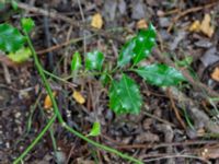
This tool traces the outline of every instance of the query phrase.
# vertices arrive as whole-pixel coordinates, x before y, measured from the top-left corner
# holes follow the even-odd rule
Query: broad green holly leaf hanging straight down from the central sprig
[[[110,89],[110,107],[116,114],[139,114],[142,98],[136,82],[123,74],[113,81]]]

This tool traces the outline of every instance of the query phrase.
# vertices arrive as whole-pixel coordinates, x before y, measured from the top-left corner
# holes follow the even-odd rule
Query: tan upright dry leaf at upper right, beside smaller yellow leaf
[[[209,14],[205,14],[204,20],[200,24],[200,31],[207,35],[208,37],[211,37],[214,34],[214,26],[210,25],[211,17]]]

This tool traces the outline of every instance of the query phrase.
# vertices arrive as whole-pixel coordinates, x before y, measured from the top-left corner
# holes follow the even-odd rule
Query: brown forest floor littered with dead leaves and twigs
[[[47,74],[57,93],[58,107],[70,127],[88,134],[97,119],[101,134],[93,140],[143,163],[219,163],[217,0],[26,0],[19,2],[19,8],[23,15],[35,21],[31,37],[45,70],[62,79]],[[19,25],[21,11],[4,7],[0,13],[1,23]],[[95,13],[103,17],[101,30],[90,26]],[[206,30],[192,26],[195,21],[206,23]],[[119,116],[110,109],[108,87],[102,86],[96,77],[67,79],[76,51],[83,55],[100,49],[107,61],[115,63],[124,43],[150,22],[158,33],[157,46],[151,58],[143,62],[173,66],[188,82],[177,87],[157,87],[130,73],[140,85],[143,105],[139,115]],[[84,96],[83,105],[73,99],[73,90]],[[18,65],[0,54],[1,164],[12,163],[51,117],[53,112],[44,108],[46,95],[33,59]],[[84,142],[56,121],[51,131],[25,156],[24,163],[130,162]]]

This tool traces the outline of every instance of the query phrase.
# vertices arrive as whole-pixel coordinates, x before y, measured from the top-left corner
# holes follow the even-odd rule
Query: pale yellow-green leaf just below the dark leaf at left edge
[[[12,61],[18,62],[18,63],[21,63],[21,62],[24,62],[24,61],[28,60],[31,56],[32,56],[31,49],[30,48],[25,48],[25,47],[22,47],[18,51],[10,52],[8,55],[8,57]]]

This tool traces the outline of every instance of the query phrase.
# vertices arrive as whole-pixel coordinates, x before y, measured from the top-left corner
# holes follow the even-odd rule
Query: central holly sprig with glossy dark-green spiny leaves
[[[125,71],[132,71],[141,77],[147,83],[157,86],[177,85],[185,81],[184,77],[176,69],[163,63],[152,63],[140,67],[139,62],[151,55],[155,45],[155,28],[152,24],[148,30],[141,30],[128,40],[122,48],[114,71],[103,69],[101,80],[104,84],[110,81],[108,97],[110,108],[116,114],[139,114],[142,105],[142,96],[139,85]],[[88,52],[84,56],[85,70],[102,70],[104,55],[100,51]],[[107,65],[106,65],[107,66]],[[129,68],[127,67],[129,66]],[[118,80],[113,73],[120,73]]]

